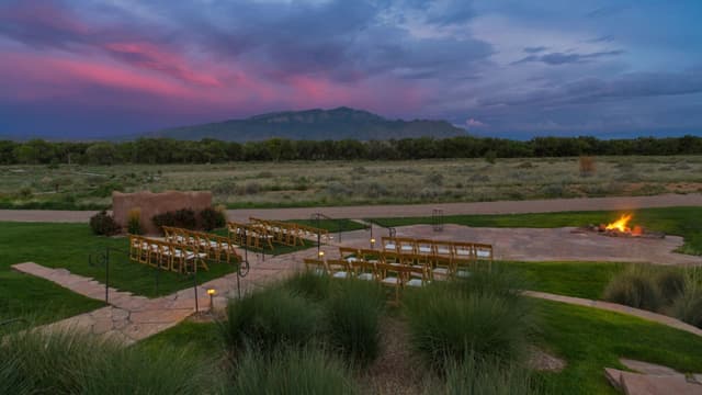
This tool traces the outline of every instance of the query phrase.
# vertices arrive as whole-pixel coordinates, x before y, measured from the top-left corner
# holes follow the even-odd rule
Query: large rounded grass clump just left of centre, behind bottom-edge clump
[[[317,305],[284,286],[275,286],[231,300],[220,329],[231,350],[249,345],[270,351],[281,345],[304,345],[319,331]]]

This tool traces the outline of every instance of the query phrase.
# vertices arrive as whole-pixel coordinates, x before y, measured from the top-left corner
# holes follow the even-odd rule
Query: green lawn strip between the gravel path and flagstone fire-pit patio
[[[684,237],[680,252],[702,255],[702,207],[666,207],[635,210],[633,224],[653,230]],[[535,227],[554,228],[601,224],[619,217],[622,212],[561,212],[505,215],[446,215],[444,222],[475,227]],[[372,218],[385,227],[431,224],[431,217]]]

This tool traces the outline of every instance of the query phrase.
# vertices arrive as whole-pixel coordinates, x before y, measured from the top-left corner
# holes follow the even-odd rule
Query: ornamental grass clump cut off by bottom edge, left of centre
[[[315,348],[284,347],[272,354],[249,350],[233,370],[228,394],[359,394],[352,374]]]

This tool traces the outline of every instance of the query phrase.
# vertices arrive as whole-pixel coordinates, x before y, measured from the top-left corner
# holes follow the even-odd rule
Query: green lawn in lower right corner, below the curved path
[[[702,372],[702,338],[618,313],[535,301],[542,317],[539,342],[567,361],[543,379],[557,394],[618,394],[604,368],[619,358],[659,363],[681,372]]]

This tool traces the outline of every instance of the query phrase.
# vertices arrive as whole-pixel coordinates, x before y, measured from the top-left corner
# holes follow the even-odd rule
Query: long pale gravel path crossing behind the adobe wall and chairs
[[[309,218],[324,213],[335,218],[377,218],[431,216],[441,208],[444,215],[455,214],[517,214],[551,213],[564,211],[635,210],[645,207],[702,206],[702,194],[663,194],[656,196],[579,198],[532,201],[500,201],[474,203],[437,203],[400,205],[362,205],[339,207],[299,208],[241,208],[229,210],[231,221],[248,221],[250,216],[263,219]],[[55,222],[84,223],[94,214],[91,211],[53,210],[0,210],[0,222]]]

